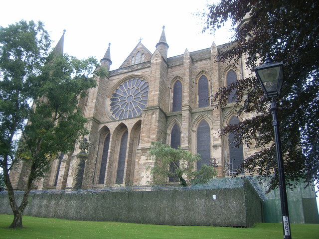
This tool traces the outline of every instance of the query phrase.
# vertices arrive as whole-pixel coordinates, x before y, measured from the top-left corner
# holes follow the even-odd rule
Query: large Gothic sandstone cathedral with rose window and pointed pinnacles
[[[250,72],[241,64],[216,62],[226,45],[214,42],[210,48],[185,49],[181,55],[167,58],[169,42],[164,27],[159,36],[155,52],[140,40],[119,69],[112,71],[109,44],[101,59],[107,75],[96,77],[97,86],[79,103],[89,130],[85,157],[79,156],[83,152],[79,145],[69,154],[61,153],[45,178],[34,184],[35,190],[147,186],[147,168],[154,164],[148,158],[152,141],[199,153],[202,160],[195,170],[211,165],[217,177],[231,177],[244,158],[255,152],[245,145],[234,147],[234,135],[219,136],[223,126],[250,117],[237,116],[234,92],[225,108],[217,108],[218,103],[211,99],[218,88]],[[63,52],[63,37],[55,50]],[[12,172],[15,189],[23,189],[25,170],[20,164]],[[174,185],[175,180],[167,178],[167,184]]]

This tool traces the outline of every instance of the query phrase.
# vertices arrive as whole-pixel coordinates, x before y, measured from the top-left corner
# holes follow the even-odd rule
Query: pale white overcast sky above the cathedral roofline
[[[152,53],[165,25],[168,57],[209,48],[214,41],[229,41],[227,28],[215,36],[201,33],[201,20],[195,12],[207,0],[3,0],[0,25],[6,27],[21,19],[41,20],[50,32],[53,46],[66,29],[64,52],[77,58],[103,58],[111,43],[111,70],[125,61],[139,39]]]

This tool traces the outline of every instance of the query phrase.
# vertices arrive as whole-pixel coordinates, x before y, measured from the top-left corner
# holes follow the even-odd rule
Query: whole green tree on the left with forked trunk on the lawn
[[[0,166],[14,215],[10,228],[22,227],[33,181],[86,133],[78,101],[95,85],[91,75],[97,61],[48,54],[49,46],[41,22],[0,28]],[[9,171],[20,162],[29,173],[18,206]]]

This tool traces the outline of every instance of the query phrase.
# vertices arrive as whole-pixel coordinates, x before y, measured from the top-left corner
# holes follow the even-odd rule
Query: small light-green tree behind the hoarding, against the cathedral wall
[[[167,144],[151,142],[149,159],[154,160],[153,167],[149,167],[152,175],[152,185],[167,185],[168,177],[177,177],[179,185],[204,184],[214,178],[216,170],[207,165],[194,172],[194,164],[201,160],[199,154],[192,154],[188,150],[175,149]],[[188,180],[188,182],[187,182]]]

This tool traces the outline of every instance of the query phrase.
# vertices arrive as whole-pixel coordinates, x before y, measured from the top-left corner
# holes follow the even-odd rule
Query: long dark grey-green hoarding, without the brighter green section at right
[[[24,215],[163,225],[251,227],[262,222],[258,194],[246,179],[236,182],[206,189],[35,193]],[[0,213],[11,214],[6,194],[0,195]]]

